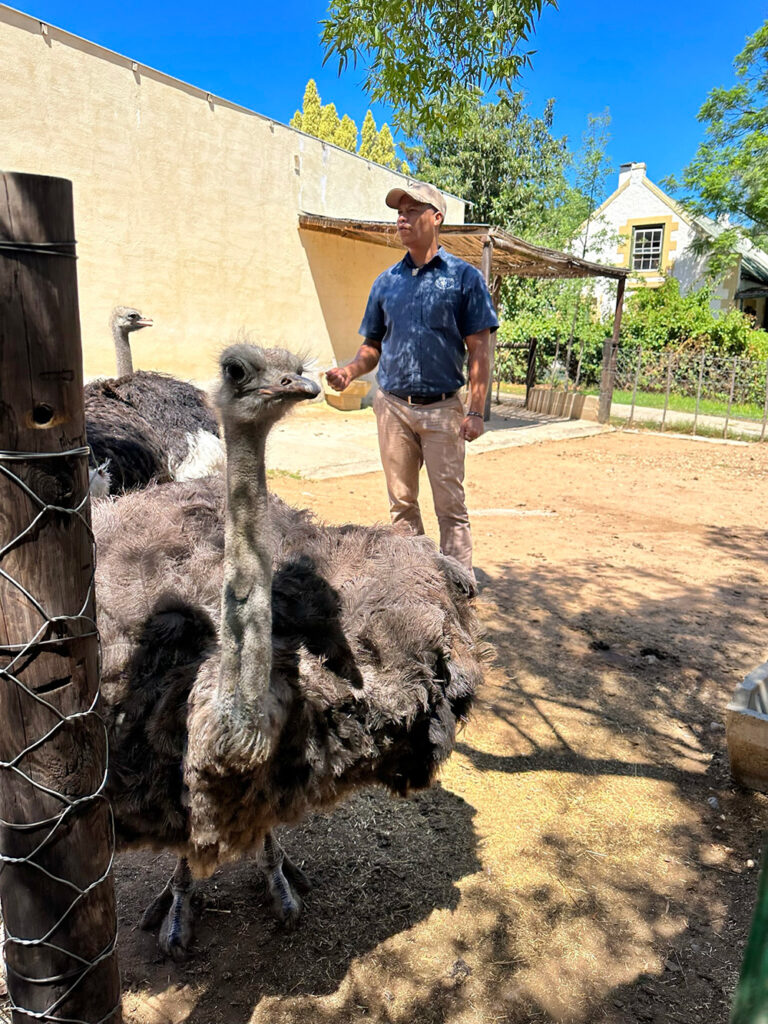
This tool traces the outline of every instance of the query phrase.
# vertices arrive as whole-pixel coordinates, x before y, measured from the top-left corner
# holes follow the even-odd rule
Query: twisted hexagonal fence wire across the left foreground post
[[[45,699],[44,696],[36,693],[34,690],[30,689],[25,682],[22,680],[22,675],[24,673],[25,667],[34,662],[35,656],[45,649],[46,641],[43,639],[45,636],[52,635],[56,638],[56,642],[60,642],[66,639],[84,639],[88,637],[95,637],[97,642],[97,660],[98,660],[98,678],[101,676],[101,649],[98,640],[98,631],[96,629],[95,621],[86,611],[89,607],[92,607],[92,598],[94,592],[94,580],[95,580],[95,543],[93,531],[83,514],[83,511],[88,502],[88,489],[86,484],[86,493],[82,499],[77,501],[73,507],[62,507],[59,505],[51,505],[40,499],[26,483],[20,479],[12,470],[9,468],[8,464],[14,462],[29,462],[37,461],[40,459],[61,459],[67,457],[82,457],[87,458],[89,454],[88,447],[75,449],[70,452],[55,452],[55,453],[29,453],[29,452],[0,452],[0,473],[3,474],[8,480],[10,480],[15,486],[19,487],[27,498],[29,499],[31,505],[36,512],[27,525],[17,537],[13,538],[3,547],[0,547],[0,578],[2,578],[8,585],[10,585],[18,594],[22,595],[25,601],[27,601],[37,612],[41,618],[41,626],[35,632],[34,636],[30,637],[20,644],[12,644],[9,647],[0,647],[0,652],[6,656],[10,656],[10,660],[5,666],[5,668],[0,668],[0,680],[3,684],[11,685],[17,687],[19,691],[23,691],[26,696],[32,700],[43,705],[53,716],[55,723],[48,729],[44,734],[32,738],[27,745],[24,746],[14,757],[8,761],[0,761],[0,771],[8,773],[12,776],[24,780],[33,788],[41,794],[45,794],[47,797],[53,798],[55,801],[60,803],[60,810],[51,815],[49,818],[45,818],[40,821],[30,822],[30,821],[6,821],[0,817],[0,835],[7,835],[8,833],[27,833],[29,834],[33,829],[44,830],[43,839],[36,845],[34,850],[32,850],[25,857],[11,857],[0,850],[0,870],[4,869],[6,865],[20,864],[25,863],[30,867],[33,872],[40,877],[41,884],[48,885],[50,882],[55,883],[58,886],[63,887],[72,893],[72,898],[69,905],[66,907],[65,912],[59,915],[58,920],[54,925],[49,928],[44,935],[36,938],[22,938],[18,935],[12,934],[8,930],[8,922],[5,921],[4,924],[5,934],[2,942],[2,952],[3,961],[5,962],[7,974],[8,974],[8,995],[7,1001],[4,1006],[0,1005],[0,1021],[3,1020],[3,1014],[7,1015],[7,1019],[10,1019],[10,1014],[24,1015],[30,1020],[51,1022],[51,1024],[104,1024],[104,1022],[111,1020],[120,1010],[120,1002],[112,1008],[110,1012],[100,1017],[98,1020],[84,1020],[81,1018],[74,1018],[70,1016],[59,1016],[59,1011],[66,1013],[66,1006],[68,1000],[70,1000],[73,995],[76,994],[78,988],[83,984],[85,979],[92,974],[96,968],[102,964],[104,961],[109,959],[111,956],[115,955],[115,949],[117,944],[117,920],[115,923],[115,932],[109,938],[105,947],[100,950],[96,955],[92,957],[82,956],[76,949],[66,949],[57,942],[52,941],[53,936],[59,929],[65,930],[66,934],[66,924],[69,919],[75,913],[79,905],[85,900],[88,895],[93,892],[98,886],[103,885],[111,878],[113,872],[113,865],[115,861],[115,821],[112,811],[112,806],[106,799],[104,794],[106,785],[106,774],[109,770],[109,744],[106,736],[106,726],[103,719],[96,712],[96,703],[98,700],[98,689],[93,697],[90,707],[85,711],[76,712],[70,715],[62,714],[57,708]],[[88,474],[85,474],[86,481],[88,479]],[[92,558],[91,558],[91,577],[88,583],[87,594],[85,601],[83,602],[81,608],[74,614],[65,615],[52,615],[49,614],[43,604],[42,600],[31,594],[27,588],[18,580],[15,580],[10,573],[6,572],[2,567],[3,558],[13,550],[28,535],[32,534],[34,530],[39,528],[45,518],[49,515],[65,515],[77,519],[84,530],[87,532],[88,541],[91,546]],[[70,725],[77,721],[87,722],[88,720],[95,720],[98,723],[99,728],[103,732],[104,751],[108,752],[104,759],[104,771],[98,785],[93,790],[92,793],[86,794],[81,797],[72,798],[60,790],[52,786],[51,784],[44,784],[43,782],[33,778],[23,767],[24,759],[27,755],[32,754],[34,751],[42,748],[45,743],[52,740],[58,732],[67,729]],[[6,782],[6,785],[8,782]],[[71,879],[63,878],[61,876],[53,873],[51,870],[43,866],[40,863],[40,857],[46,851],[48,847],[53,845],[58,839],[60,839],[60,834],[63,833],[69,824],[70,819],[76,814],[81,813],[85,808],[89,806],[95,806],[97,804],[104,804],[108,808],[109,814],[109,835],[110,835],[110,848],[108,863],[104,870],[94,878],[88,885],[82,886],[78,885]],[[38,964],[42,967],[46,959],[50,961],[50,954],[54,957],[56,954],[63,955],[72,963],[72,968],[55,977],[45,977],[45,978],[30,978],[20,975],[15,969],[8,964],[6,951],[12,946],[27,946],[33,947],[36,951],[39,951],[40,955],[38,957]],[[46,954],[49,954],[46,956]],[[22,1007],[14,1001],[13,988],[14,988],[14,976],[23,982],[28,984],[37,984],[41,986],[66,986],[63,991],[59,996],[57,996],[45,1010],[31,1010],[30,1008]]]

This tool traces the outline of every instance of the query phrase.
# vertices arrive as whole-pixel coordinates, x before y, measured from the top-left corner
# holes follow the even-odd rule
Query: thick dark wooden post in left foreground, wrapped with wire
[[[121,1020],[105,735],[87,714],[90,511],[60,511],[88,488],[74,454],[85,445],[74,238],[70,181],[0,174],[0,904],[14,1024]]]

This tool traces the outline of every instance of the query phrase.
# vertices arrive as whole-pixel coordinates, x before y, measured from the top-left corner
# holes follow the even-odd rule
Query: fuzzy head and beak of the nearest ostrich
[[[240,343],[221,353],[218,408],[225,426],[271,424],[297,401],[314,398],[319,385],[303,376],[298,355],[285,348]]]

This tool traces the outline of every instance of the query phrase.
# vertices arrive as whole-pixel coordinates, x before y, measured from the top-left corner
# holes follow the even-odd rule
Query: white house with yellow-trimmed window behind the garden
[[[598,207],[572,251],[596,262],[628,267],[628,291],[657,288],[668,275],[677,278],[683,293],[705,284],[707,257],[696,255],[691,243],[716,236],[722,228],[713,220],[692,217],[646,177],[645,164],[622,164],[615,191]],[[717,308],[732,306],[752,312],[768,327],[768,253],[742,243],[739,260],[715,290]]]

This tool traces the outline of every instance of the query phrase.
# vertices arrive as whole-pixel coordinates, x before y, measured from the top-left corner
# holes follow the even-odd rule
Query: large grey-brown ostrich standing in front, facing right
[[[179,856],[143,921],[176,957],[191,874],[236,858],[257,858],[295,924],[304,880],[272,829],[364,785],[429,785],[481,680],[458,563],[268,496],[268,430],[317,393],[301,373],[283,350],[221,356],[225,502],[210,477],[94,511],[110,796],[121,845]]]

